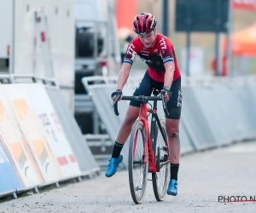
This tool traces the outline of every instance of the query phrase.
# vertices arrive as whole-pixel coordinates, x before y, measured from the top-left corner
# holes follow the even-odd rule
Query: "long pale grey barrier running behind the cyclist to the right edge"
[[[130,77],[124,95],[132,95],[142,77]],[[116,89],[117,77],[83,78],[85,89],[95,104],[112,141],[125,117],[128,101],[119,101],[115,116],[110,95]],[[198,152],[236,141],[256,138],[255,77],[248,78],[183,78],[183,109],[180,122],[181,153]],[[161,103],[158,103],[161,109]],[[159,110],[160,118],[164,112]],[[129,138],[122,154],[128,161]]]

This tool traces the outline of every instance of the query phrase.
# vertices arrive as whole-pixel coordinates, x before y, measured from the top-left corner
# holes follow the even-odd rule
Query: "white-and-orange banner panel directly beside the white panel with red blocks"
[[[58,181],[61,178],[61,168],[39,128],[36,114],[29,105],[26,90],[22,84],[3,85],[2,88],[15,112],[15,119],[27,141],[26,146],[31,150],[32,158],[35,158],[44,177],[44,183]]]

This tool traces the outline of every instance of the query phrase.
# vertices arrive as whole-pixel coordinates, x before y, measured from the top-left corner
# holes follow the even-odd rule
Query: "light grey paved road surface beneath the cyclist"
[[[255,162],[256,142],[184,156],[178,195],[164,202],[155,201],[148,181],[143,204],[133,204],[127,171],[111,178],[102,172],[93,180],[4,202],[0,212],[256,212],[256,202],[218,203],[218,196],[256,198]]]

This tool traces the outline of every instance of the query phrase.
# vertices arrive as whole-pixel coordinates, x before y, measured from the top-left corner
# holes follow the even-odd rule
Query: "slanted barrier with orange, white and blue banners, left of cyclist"
[[[0,197],[100,171],[55,81],[18,75],[0,81]]]

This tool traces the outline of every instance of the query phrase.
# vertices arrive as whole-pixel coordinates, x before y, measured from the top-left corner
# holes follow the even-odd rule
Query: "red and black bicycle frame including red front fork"
[[[148,112],[151,113],[152,118],[151,118],[151,130],[149,134],[149,126],[148,126]],[[159,170],[157,170],[157,166],[154,163],[155,162],[155,157],[154,157],[154,152],[153,152],[153,142],[156,142],[155,138],[155,122],[159,125],[159,130],[161,135],[163,136],[165,142],[166,140],[166,135],[164,135],[163,130],[160,125],[160,119],[157,115],[157,101],[154,101],[154,107],[153,110],[149,109],[147,107],[146,103],[141,103],[140,106],[140,112],[139,112],[139,119],[143,122],[143,125],[145,127],[145,132],[144,136],[147,139],[147,146],[144,147],[144,153],[148,153],[148,172],[150,173],[155,173]],[[143,158],[143,163],[146,163],[147,158]]]

